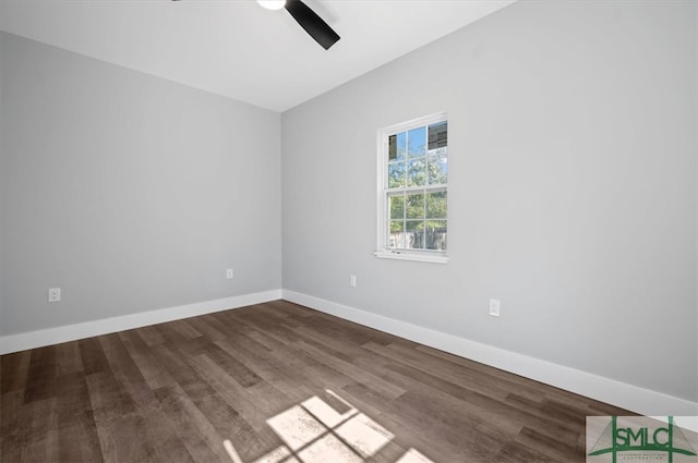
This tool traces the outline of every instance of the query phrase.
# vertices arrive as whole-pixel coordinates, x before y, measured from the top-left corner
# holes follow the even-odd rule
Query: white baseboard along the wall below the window
[[[287,301],[648,416],[696,416],[698,403],[406,321],[282,290]]]

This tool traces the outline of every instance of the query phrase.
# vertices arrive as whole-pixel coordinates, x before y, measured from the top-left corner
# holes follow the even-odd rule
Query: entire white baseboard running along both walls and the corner
[[[288,290],[244,294],[64,327],[3,336],[0,337],[0,354],[245,307],[278,298],[285,298],[642,415],[698,415],[698,403],[696,402]]]

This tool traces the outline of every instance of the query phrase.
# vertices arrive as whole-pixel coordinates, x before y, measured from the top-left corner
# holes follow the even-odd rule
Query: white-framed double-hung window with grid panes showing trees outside
[[[377,257],[445,263],[446,113],[378,131]]]

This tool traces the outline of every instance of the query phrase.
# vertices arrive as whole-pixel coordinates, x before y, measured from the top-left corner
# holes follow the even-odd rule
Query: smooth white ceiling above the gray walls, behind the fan
[[[0,0],[0,29],[285,111],[514,0],[304,0],[325,51],[254,0]]]

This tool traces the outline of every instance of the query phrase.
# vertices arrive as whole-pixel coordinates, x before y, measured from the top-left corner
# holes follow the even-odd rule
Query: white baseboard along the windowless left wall
[[[272,290],[214,301],[205,301],[195,304],[180,305],[177,307],[161,308],[158,310],[143,312],[140,314],[105,318],[101,320],[85,321],[63,327],[47,328],[38,331],[3,336],[0,337],[0,354],[41,348],[44,345],[59,344],[61,342],[75,341],[77,339],[92,338],[94,336],[107,334],[116,331],[195,317],[197,315],[210,314],[214,312],[228,310],[230,308],[245,307],[248,305],[261,304],[264,302],[276,301],[278,298],[281,298],[281,290]]]

